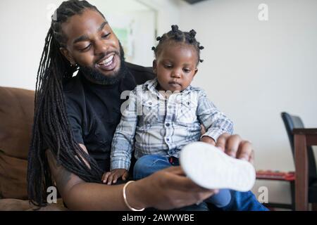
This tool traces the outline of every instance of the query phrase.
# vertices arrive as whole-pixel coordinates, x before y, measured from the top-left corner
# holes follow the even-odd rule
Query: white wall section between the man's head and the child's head
[[[132,23],[133,35],[130,39],[132,56],[125,53],[130,63],[151,66],[155,44],[156,12],[147,5],[136,0],[92,0],[89,1],[104,13],[111,27],[123,28]]]

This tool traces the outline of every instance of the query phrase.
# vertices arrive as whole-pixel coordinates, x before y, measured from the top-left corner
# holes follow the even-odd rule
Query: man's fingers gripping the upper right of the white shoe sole
[[[216,147],[233,158],[247,160],[253,164],[254,150],[251,142],[242,140],[239,135],[222,134],[218,137]]]

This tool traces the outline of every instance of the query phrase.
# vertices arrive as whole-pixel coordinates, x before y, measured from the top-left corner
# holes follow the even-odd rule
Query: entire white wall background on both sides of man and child
[[[122,2],[125,4],[121,4]],[[194,85],[201,86],[234,122],[235,132],[254,143],[257,169],[294,170],[290,144],[280,118],[286,110],[301,115],[306,127],[317,127],[317,1],[315,0],[209,0],[188,5],[181,0],[94,0],[92,4],[116,24],[120,13],[149,15],[139,25],[139,35],[153,36],[178,24],[197,30],[205,46]],[[35,78],[50,21],[49,4],[61,0],[1,0],[1,86],[35,89]],[[259,4],[268,4],[268,21],[258,20]],[[118,7],[127,6],[126,8]],[[123,12],[122,12],[123,10]],[[110,12],[113,12],[112,14]],[[119,15],[118,15],[119,14]],[[150,30],[151,29],[151,30]],[[137,63],[151,65],[155,44],[136,43],[143,57]],[[281,182],[257,182],[269,187],[269,199],[289,202],[289,188]]]

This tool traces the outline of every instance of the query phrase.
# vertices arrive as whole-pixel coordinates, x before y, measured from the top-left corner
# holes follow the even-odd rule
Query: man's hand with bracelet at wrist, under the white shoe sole
[[[133,193],[137,194],[138,198],[133,198]],[[131,184],[127,195],[131,196],[131,204],[137,208],[171,210],[201,203],[216,193],[218,190],[208,190],[195,184],[185,176],[181,167],[168,167]],[[135,204],[133,200],[143,204]]]

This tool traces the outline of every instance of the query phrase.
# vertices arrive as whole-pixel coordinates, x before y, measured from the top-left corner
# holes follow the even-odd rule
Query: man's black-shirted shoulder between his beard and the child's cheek
[[[135,65],[132,63],[125,62],[126,67],[131,72],[133,77],[135,77],[135,82],[137,84],[144,84],[150,79],[154,79],[155,75],[150,67],[144,67],[141,65]]]

